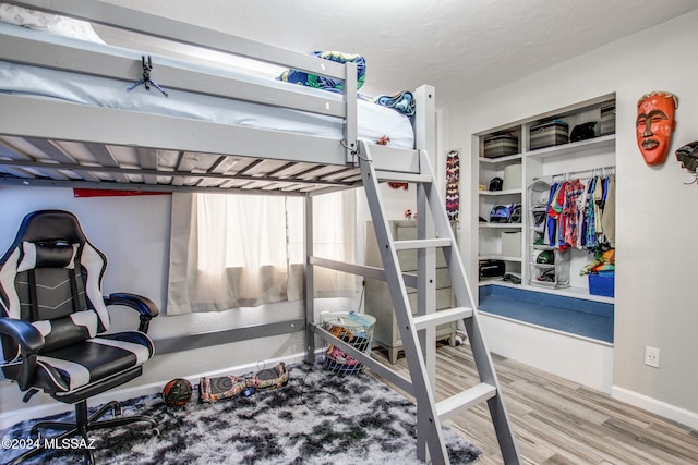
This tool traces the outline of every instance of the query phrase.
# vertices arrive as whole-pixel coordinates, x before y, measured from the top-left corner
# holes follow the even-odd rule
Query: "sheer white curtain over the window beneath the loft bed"
[[[304,199],[172,196],[168,315],[303,298]],[[313,199],[314,255],[356,262],[356,193]],[[316,296],[349,296],[356,277],[315,270]]]

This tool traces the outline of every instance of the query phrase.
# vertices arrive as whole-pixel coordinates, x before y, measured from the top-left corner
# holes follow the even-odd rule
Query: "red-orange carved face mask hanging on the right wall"
[[[637,145],[647,164],[662,164],[666,161],[672,133],[676,126],[676,96],[664,91],[646,94],[637,102]]]

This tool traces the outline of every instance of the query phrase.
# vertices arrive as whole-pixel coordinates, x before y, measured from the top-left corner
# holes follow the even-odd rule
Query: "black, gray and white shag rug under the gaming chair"
[[[151,415],[145,424],[91,432],[99,464],[418,464],[417,408],[366,374],[334,375],[324,365],[291,365],[287,386],[214,404],[166,405],[160,395],[122,403],[123,415]],[[108,418],[111,414],[107,414]],[[63,414],[51,419],[72,419]],[[27,438],[34,421],[5,435]],[[46,431],[45,436],[52,431]],[[444,429],[453,464],[481,452]],[[5,463],[22,451],[0,450]],[[31,464],[80,463],[75,451],[47,451]]]

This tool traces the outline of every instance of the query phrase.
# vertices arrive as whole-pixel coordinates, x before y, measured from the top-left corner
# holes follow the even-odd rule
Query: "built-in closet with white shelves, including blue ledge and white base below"
[[[471,140],[470,218],[478,224],[472,237],[464,234],[462,252],[477,261],[470,285],[491,351],[607,392],[613,276],[592,277],[590,287],[583,270],[595,250],[541,243],[547,231],[537,217],[549,220],[555,183],[586,187],[616,175],[615,94],[503,121]]]

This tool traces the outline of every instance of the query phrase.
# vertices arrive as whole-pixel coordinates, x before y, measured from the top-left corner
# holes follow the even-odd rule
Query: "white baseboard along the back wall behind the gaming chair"
[[[301,353],[301,354],[288,355],[286,357],[280,357],[279,359],[276,359],[275,363],[284,362],[287,365],[290,365],[294,363],[300,363],[304,359],[305,359],[305,354]],[[198,380],[204,376],[216,377],[216,376],[224,376],[224,375],[230,375],[230,374],[242,375],[242,374],[258,371],[260,369],[263,369],[263,368],[268,368],[268,367],[262,367],[257,362],[255,362],[255,363],[225,368],[216,371],[191,375],[182,378],[186,378],[193,386],[197,386]],[[96,405],[105,404],[109,401],[123,402],[129,399],[140,397],[142,395],[157,394],[163,391],[163,387],[168,381],[169,379],[166,379],[166,380],[151,382],[148,384],[135,386],[131,388],[112,389],[111,391],[107,391],[99,395],[95,395],[88,401],[88,403],[89,403],[89,406],[96,406]],[[37,395],[46,395],[46,394],[39,393]],[[64,412],[72,412],[72,411],[73,411],[72,405],[63,404],[58,401],[52,401],[48,404],[36,405],[31,407],[27,406],[24,408],[17,408],[15,411],[3,412],[2,414],[0,414],[0,437],[3,437],[4,432],[10,427],[12,427],[17,423],[37,419],[37,418],[44,418],[47,416],[58,415]]]

